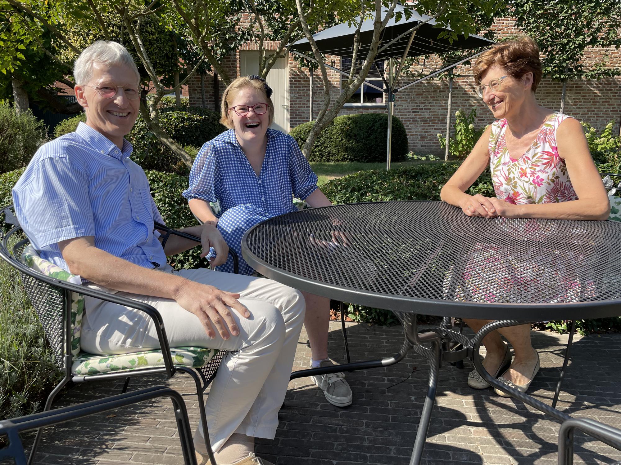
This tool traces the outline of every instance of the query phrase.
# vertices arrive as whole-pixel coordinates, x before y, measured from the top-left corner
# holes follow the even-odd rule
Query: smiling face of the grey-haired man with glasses
[[[97,89],[102,82],[111,82],[117,87],[131,86],[138,82],[134,70],[124,64],[106,66],[93,64],[93,76],[87,86],[76,86],[76,99],[86,112],[86,124],[110,139],[120,149],[123,138],[132,130],[138,116],[140,99],[130,100],[123,89],[111,99],[104,99]]]

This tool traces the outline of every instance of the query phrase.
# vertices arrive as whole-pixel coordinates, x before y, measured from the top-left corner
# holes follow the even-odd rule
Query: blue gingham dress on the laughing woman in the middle
[[[242,236],[264,219],[296,211],[292,196],[304,200],[317,189],[317,175],[297,146],[296,140],[281,131],[268,129],[265,158],[257,176],[229,130],[205,143],[194,160],[188,200],[218,201],[218,229],[240,259],[240,273],[254,270],[242,258]],[[208,257],[210,258],[210,257]],[[218,267],[232,272],[232,260]]]

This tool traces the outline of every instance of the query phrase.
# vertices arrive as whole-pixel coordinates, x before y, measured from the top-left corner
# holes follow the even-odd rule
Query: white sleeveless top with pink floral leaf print
[[[556,203],[578,199],[569,181],[565,161],[556,149],[556,128],[566,118],[571,117],[552,113],[543,123],[535,141],[518,159],[510,156],[507,150],[507,120],[492,123],[489,170],[497,198],[514,204]]]

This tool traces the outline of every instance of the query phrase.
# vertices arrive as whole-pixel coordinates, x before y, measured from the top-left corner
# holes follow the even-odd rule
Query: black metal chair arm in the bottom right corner
[[[591,418],[569,418],[561,424],[558,432],[558,465],[572,465],[574,463],[574,430],[580,430],[594,438],[607,440],[614,448],[621,451],[621,430],[604,425]],[[615,462],[613,465],[619,465]]]

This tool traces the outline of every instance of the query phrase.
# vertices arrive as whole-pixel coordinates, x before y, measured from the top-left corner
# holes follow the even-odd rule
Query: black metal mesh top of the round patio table
[[[270,267],[370,293],[503,304],[621,299],[614,221],[470,218],[443,202],[363,203],[277,216],[246,244]]]

